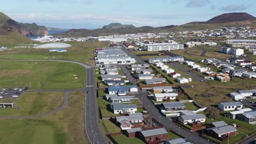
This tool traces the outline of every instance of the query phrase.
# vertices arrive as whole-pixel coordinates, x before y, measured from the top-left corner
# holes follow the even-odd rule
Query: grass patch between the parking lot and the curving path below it
[[[19,109],[0,109],[0,116],[40,115],[56,109],[63,103],[63,92],[25,93],[18,99],[1,99],[3,102],[15,102]]]

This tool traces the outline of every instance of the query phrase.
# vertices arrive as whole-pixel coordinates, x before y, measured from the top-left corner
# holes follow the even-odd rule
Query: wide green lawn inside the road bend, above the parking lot
[[[84,67],[67,62],[0,62],[2,87],[67,89],[85,86]]]

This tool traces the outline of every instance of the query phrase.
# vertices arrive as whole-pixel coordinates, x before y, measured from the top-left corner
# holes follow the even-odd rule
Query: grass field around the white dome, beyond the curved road
[[[65,42],[66,43],[66,42]],[[44,44],[44,43],[41,43]],[[1,59],[65,59],[70,61],[83,62],[89,65],[95,65],[94,50],[97,47],[107,47],[108,43],[104,42],[67,42],[72,47],[67,48],[67,52],[49,52],[49,49],[34,48],[14,48],[11,50],[1,51]]]

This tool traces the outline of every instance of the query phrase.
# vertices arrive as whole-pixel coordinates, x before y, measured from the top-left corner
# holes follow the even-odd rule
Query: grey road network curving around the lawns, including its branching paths
[[[42,116],[49,115],[56,111],[59,111],[67,106],[68,104],[68,95],[69,91],[75,90],[83,90],[85,92],[85,117],[84,117],[84,124],[85,124],[85,133],[86,137],[88,137],[90,143],[108,143],[108,140],[104,136],[100,128],[100,119],[98,118],[98,107],[97,107],[97,92],[95,87],[95,71],[94,66],[90,66],[81,62],[75,61],[64,61],[64,60],[1,60],[0,61],[18,61],[18,62],[69,62],[79,64],[86,69],[86,87],[83,89],[52,89],[52,90],[35,90],[35,91],[28,91],[28,92],[54,92],[54,91],[65,91],[65,98],[64,102],[60,107],[57,107],[55,110],[43,113],[42,115],[37,116],[24,116],[24,117],[0,117],[0,119],[25,119],[25,118],[38,118]],[[86,93],[90,92],[90,93]],[[87,100],[86,100],[87,99]]]

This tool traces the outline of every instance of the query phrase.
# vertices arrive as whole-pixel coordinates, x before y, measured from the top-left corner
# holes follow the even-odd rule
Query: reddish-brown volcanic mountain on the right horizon
[[[247,13],[227,13],[222,14],[208,21],[195,21],[185,23],[172,28],[174,31],[200,30],[200,29],[216,29],[222,27],[251,26],[256,27],[256,18]]]

